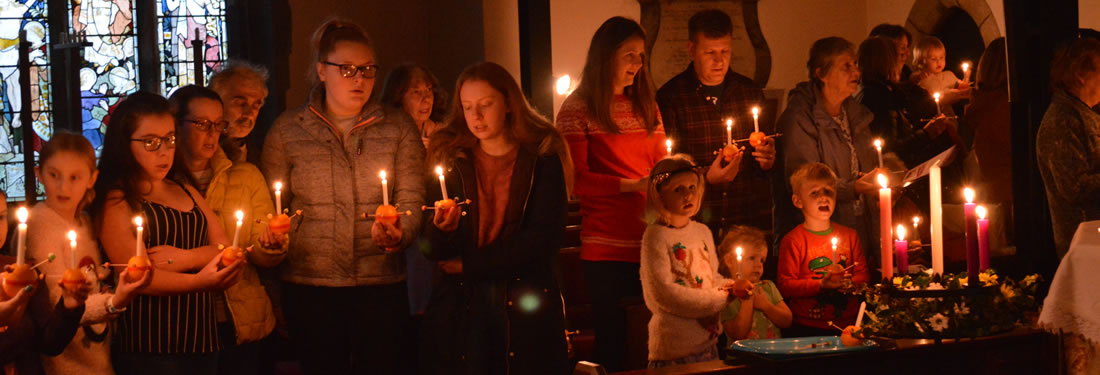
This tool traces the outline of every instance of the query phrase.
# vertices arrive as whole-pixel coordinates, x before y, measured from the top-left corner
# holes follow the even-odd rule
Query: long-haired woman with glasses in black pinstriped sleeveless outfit
[[[222,342],[215,295],[237,283],[244,262],[218,269],[229,240],[194,187],[179,183],[176,126],[168,101],[136,92],[111,112],[91,212],[111,263],[127,264],[136,242],[156,267],[118,319],[119,374],[216,374]],[[144,219],[136,236],[134,217]],[[112,307],[108,307],[112,310]]]

